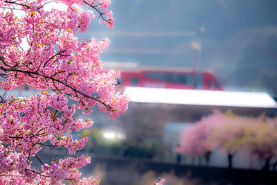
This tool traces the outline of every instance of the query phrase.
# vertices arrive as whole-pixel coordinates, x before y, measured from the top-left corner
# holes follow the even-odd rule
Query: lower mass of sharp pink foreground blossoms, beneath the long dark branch
[[[85,135],[74,140],[72,136],[66,136],[74,128],[80,130],[90,127],[92,121],[73,118],[75,106],[66,105],[65,97],[62,94],[44,93],[19,100],[6,98],[6,103],[0,105],[1,174],[19,173],[31,182],[34,175],[37,182],[43,179],[49,182],[78,179],[78,168],[88,164],[89,157],[60,159],[53,161],[50,166],[42,164],[43,172],[32,169],[31,162],[28,161],[28,157],[37,157],[37,152],[42,146],[46,146],[44,142],[49,139],[53,143],[49,147],[64,146],[69,149],[70,154],[74,154],[87,143]],[[66,166],[70,166],[70,169]]]

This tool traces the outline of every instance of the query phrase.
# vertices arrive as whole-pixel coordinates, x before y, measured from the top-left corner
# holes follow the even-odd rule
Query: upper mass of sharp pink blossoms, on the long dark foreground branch
[[[5,58],[0,69],[8,74],[1,87],[10,90],[28,83],[37,89],[53,89],[71,94],[71,98],[78,101],[78,108],[87,114],[98,103],[108,109],[111,117],[119,116],[126,109],[128,100],[125,94],[115,95],[118,73],[101,73],[100,53],[107,49],[109,40],[78,40],[75,36],[77,30],[87,29],[94,17],[93,12],[79,10],[74,5],[67,12],[54,8],[48,12],[40,8],[42,2],[39,2],[30,1],[26,5],[28,8],[23,8],[25,15],[20,19],[13,12],[1,12],[0,34],[6,42],[0,45],[1,57]],[[100,4],[107,8],[107,2],[101,1]],[[94,3],[96,1],[91,6]],[[27,39],[28,49],[19,47],[22,39]],[[91,97],[93,92],[99,96]],[[122,106],[113,108],[109,103],[114,103],[116,98]]]

